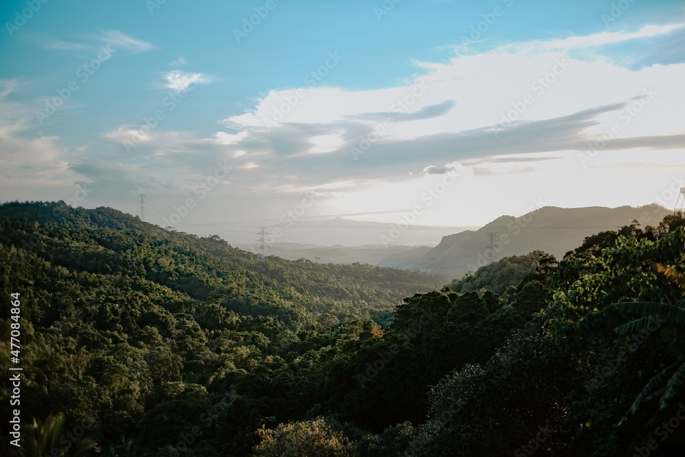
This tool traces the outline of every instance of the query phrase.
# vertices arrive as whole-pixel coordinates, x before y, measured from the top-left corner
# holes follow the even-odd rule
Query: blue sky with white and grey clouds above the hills
[[[245,243],[685,187],[682,1],[5,0],[0,24],[0,201],[144,194]]]

